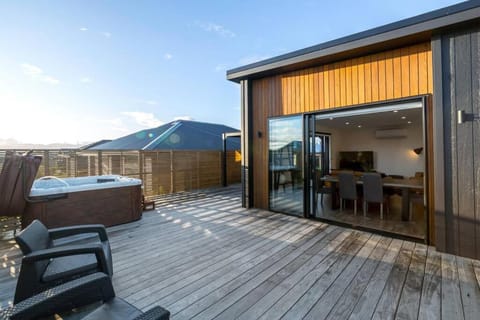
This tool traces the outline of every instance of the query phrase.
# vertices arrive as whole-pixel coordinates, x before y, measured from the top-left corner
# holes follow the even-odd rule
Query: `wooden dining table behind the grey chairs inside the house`
[[[321,178],[325,182],[332,184],[333,190],[337,190],[338,176],[326,175]],[[363,184],[362,177],[358,176],[357,184]],[[410,193],[411,191],[423,194],[423,179],[394,179],[391,177],[382,178],[382,185],[384,188],[400,189],[402,194],[402,221],[409,220],[410,210]],[[336,209],[335,198],[332,197],[332,210]]]

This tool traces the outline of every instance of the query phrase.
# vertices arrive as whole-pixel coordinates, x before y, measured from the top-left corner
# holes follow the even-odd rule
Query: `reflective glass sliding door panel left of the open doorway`
[[[303,118],[269,120],[270,209],[303,215]]]

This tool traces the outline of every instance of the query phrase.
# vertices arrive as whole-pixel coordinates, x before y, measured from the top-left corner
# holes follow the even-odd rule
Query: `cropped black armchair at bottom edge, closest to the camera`
[[[98,301],[104,303],[90,313],[88,313],[90,309],[80,308]],[[115,298],[110,277],[101,272],[68,281],[14,304],[1,310],[0,318],[38,319],[69,312],[73,308],[80,308],[77,309],[78,316],[88,313],[82,318],[84,320],[168,320],[170,318],[170,312],[161,307],[154,307],[144,313],[124,300]]]

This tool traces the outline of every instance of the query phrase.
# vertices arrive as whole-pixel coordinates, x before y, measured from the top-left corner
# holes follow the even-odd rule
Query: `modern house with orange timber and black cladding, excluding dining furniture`
[[[365,171],[421,179],[423,241],[480,258],[480,1],[232,69],[227,79],[241,88],[244,207],[318,218],[319,181],[362,158],[353,162]],[[279,188],[286,182],[291,189]]]

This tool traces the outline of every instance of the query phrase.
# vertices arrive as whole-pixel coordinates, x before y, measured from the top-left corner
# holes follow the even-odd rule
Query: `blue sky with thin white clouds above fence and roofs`
[[[238,128],[226,70],[458,2],[0,0],[0,141],[91,142],[178,117]]]

